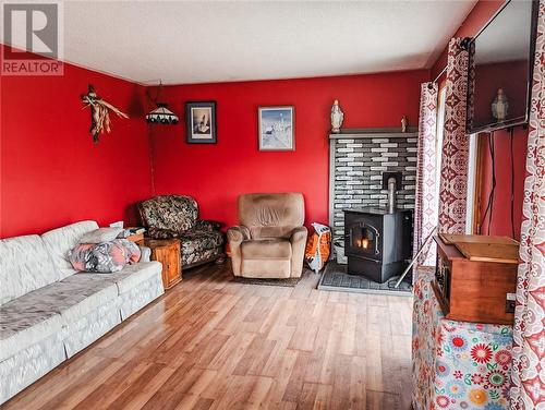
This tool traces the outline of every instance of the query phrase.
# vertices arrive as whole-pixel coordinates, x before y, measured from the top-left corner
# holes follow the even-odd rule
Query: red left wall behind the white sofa
[[[145,88],[64,65],[62,76],[1,76],[0,237],[43,232],[84,218],[136,221],[134,203],[150,195]],[[92,83],[128,113],[93,144]]]

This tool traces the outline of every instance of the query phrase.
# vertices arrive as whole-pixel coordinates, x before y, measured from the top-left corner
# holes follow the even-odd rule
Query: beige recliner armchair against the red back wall
[[[227,231],[234,276],[300,277],[307,234],[304,215],[301,193],[241,195],[240,226]]]

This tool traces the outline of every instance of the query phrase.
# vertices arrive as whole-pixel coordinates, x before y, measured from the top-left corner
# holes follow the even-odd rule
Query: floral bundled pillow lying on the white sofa
[[[80,243],[69,252],[69,261],[78,272],[109,274],[121,270],[126,264],[140,261],[140,248],[126,239],[101,243]]]

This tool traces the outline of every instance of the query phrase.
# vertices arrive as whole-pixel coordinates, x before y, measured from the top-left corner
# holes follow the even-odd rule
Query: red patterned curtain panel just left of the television
[[[469,137],[465,135],[468,51],[462,38],[448,45],[447,97],[439,188],[439,232],[465,233]]]

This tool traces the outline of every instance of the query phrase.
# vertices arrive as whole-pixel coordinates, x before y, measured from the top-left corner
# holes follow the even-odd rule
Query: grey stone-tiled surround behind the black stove
[[[344,236],[342,209],[386,206],[383,172],[401,172],[397,207],[414,209],[417,130],[342,130],[329,135],[329,226]]]

